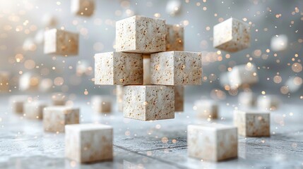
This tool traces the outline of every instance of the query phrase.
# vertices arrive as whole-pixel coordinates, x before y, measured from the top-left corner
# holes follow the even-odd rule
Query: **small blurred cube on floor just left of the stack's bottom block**
[[[109,96],[92,96],[91,106],[97,113],[110,113],[112,111],[112,100]]]

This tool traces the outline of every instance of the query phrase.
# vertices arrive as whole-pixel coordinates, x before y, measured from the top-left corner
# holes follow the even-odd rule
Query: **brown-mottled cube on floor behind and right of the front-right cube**
[[[234,111],[234,125],[239,135],[245,137],[269,137],[270,114],[264,111]]]

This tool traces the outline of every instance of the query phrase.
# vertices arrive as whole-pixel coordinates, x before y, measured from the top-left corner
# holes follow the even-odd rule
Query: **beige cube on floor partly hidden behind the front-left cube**
[[[65,125],[79,123],[79,108],[50,106],[43,110],[45,132],[64,132]]]

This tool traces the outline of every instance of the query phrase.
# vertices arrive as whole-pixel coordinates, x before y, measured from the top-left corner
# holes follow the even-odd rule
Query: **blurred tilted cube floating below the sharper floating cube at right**
[[[256,72],[256,65],[235,65],[232,68],[232,71],[228,73],[228,79],[230,80],[230,87],[232,89],[255,84],[259,82],[259,77]]]

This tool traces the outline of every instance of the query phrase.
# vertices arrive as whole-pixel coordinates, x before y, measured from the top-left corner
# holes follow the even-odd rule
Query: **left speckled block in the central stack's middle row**
[[[142,57],[142,54],[122,52],[95,54],[95,84],[142,84]]]

